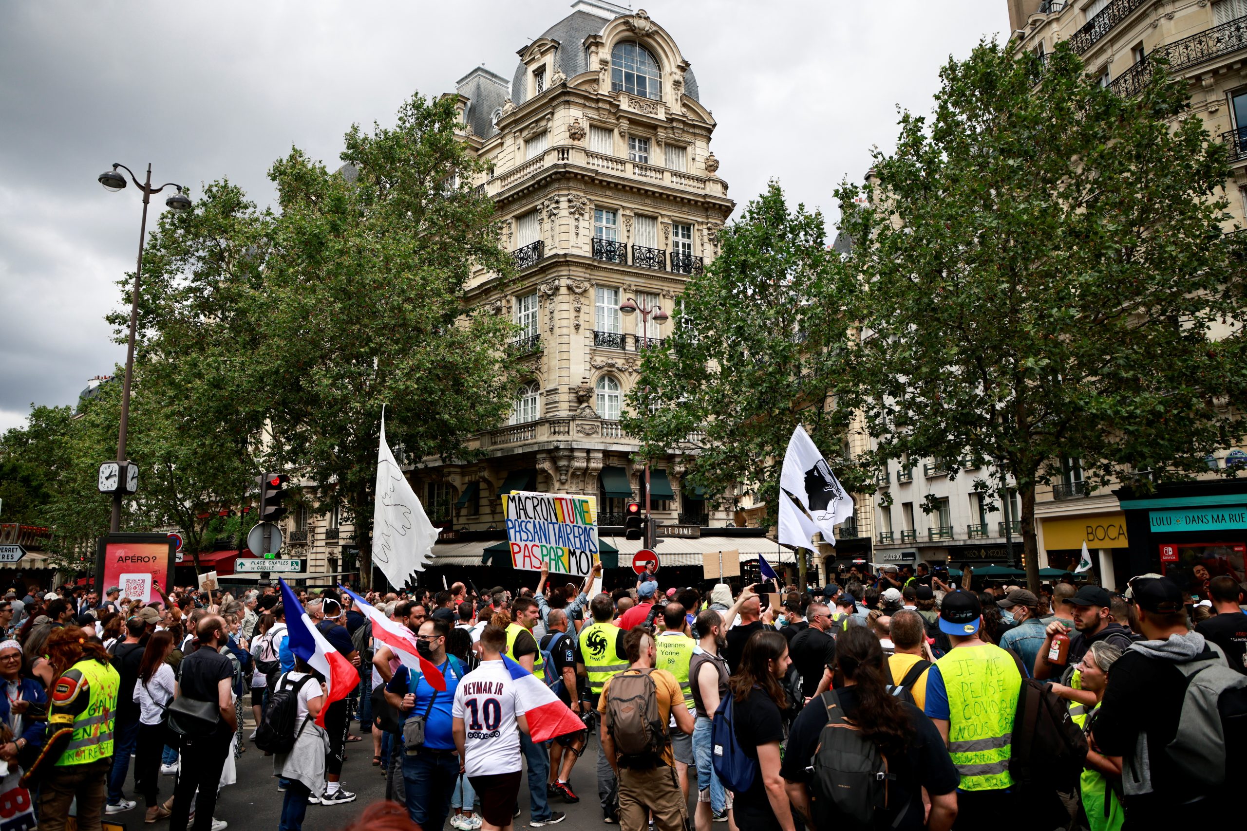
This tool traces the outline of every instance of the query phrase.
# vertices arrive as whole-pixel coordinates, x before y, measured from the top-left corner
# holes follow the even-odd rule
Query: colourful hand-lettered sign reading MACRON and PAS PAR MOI
[[[503,495],[503,517],[511,564],[587,577],[597,562],[597,500],[591,496],[530,493]]]

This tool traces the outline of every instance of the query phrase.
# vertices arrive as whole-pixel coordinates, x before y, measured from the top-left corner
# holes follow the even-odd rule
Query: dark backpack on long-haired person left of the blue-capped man
[[[809,760],[811,810],[819,829],[873,829],[875,816],[888,810],[888,785],[897,775],[888,772],[888,759],[860,729],[844,720],[835,690],[823,693],[827,724],[818,736],[818,749]],[[910,800],[913,796],[910,796]],[[909,810],[900,807],[898,819]]]

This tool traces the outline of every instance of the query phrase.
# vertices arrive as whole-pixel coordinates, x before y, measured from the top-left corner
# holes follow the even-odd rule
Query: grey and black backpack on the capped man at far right
[[[1178,770],[1210,787],[1241,781],[1247,767],[1241,753],[1247,743],[1247,675],[1227,667],[1220,652],[1177,668],[1190,681],[1170,756]]]

